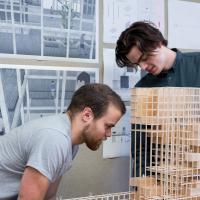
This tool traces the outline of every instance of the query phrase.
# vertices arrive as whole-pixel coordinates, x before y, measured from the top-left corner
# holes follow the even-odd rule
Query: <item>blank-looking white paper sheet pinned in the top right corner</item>
[[[171,48],[200,49],[199,11],[200,3],[178,0],[168,2],[168,41]]]

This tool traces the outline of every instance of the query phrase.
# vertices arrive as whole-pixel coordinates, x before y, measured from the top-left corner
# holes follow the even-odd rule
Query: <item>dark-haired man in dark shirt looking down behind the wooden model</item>
[[[177,49],[169,49],[167,40],[152,24],[135,22],[124,30],[116,45],[116,62],[119,67],[133,67],[148,72],[136,87],[200,87],[200,52],[182,53]],[[133,125],[133,129],[135,126]],[[141,125],[140,125],[141,126]],[[140,153],[142,159],[149,163],[149,154],[145,158],[144,134],[132,135],[132,157],[138,162]],[[140,147],[142,141],[142,148]],[[135,148],[135,144],[136,148]],[[150,141],[147,141],[148,152]],[[142,152],[140,152],[142,149]],[[136,158],[134,153],[136,150]],[[141,164],[141,163],[140,163]],[[146,174],[144,162],[136,165],[134,176]],[[139,170],[142,169],[142,170]]]

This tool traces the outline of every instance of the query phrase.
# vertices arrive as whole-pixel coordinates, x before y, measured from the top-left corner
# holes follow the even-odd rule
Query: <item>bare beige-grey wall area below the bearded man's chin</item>
[[[129,158],[102,159],[102,146],[91,151],[81,145],[59,186],[58,196],[81,197],[129,190]]]

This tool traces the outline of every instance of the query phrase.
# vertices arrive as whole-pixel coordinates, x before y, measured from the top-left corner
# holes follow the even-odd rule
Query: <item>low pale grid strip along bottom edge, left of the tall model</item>
[[[72,199],[59,199],[59,200],[131,200],[131,199],[134,199],[133,193],[121,192],[121,193],[112,193],[112,194],[78,197]]]

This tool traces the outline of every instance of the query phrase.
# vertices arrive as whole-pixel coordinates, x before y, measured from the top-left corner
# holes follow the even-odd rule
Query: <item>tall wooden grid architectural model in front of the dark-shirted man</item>
[[[200,200],[200,89],[134,88],[131,109],[136,199]]]

